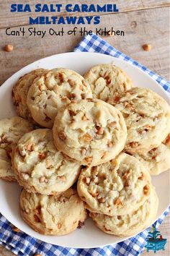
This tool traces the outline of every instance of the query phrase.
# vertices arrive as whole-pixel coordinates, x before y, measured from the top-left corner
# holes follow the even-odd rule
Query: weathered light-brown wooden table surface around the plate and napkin
[[[27,1],[18,0],[17,3],[26,3]],[[37,1],[28,1],[33,7]],[[42,1],[43,3],[48,1]],[[97,1],[82,1],[82,4],[113,4],[111,0]],[[54,30],[61,30],[61,25],[29,25],[28,17],[36,17],[38,14],[30,13],[12,13],[10,5],[12,0],[0,1],[0,85],[9,78],[14,72],[17,72],[27,64],[32,63],[37,59],[53,54],[73,51],[73,48],[81,40],[79,34],[63,35],[63,37],[45,35],[44,38],[38,36],[29,36],[25,33],[22,36],[6,35],[6,28],[10,30],[19,30],[24,27],[35,27],[36,30],[49,30],[52,27]],[[78,1],[62,1],[62,4],[77,4]],[[50,4],[56,4],[56,1],[50,1]],[[116,35],[113,37],[103,37],[112,46],[124,52],[133,59],[139,61],[154,72],[169,80],[169,11],[170,2],[161,0],[119,0],[114,1],[117,4],[120,12],[118,13],[102,13],[101,22],[97,28],[106,27],[109,30],[111,27],[114,30],[122,30],[124,36]],[[39,14],[40,15],[40,14]],[[54,14],[41,14],[45,16],[53,16]],[[66,12],[55,14],[59,16],[68,16]],[[72,16],[76,14],[71,14]],[[81,16],[86,16],[86,13],[81,13]],[[94,15],[89,13],[89,15]],[[84,27],[84,25],[63,25],[64,30],[73,29],[73,27]],[[93,30],[95,33],[95,25],[86,25],[86,30]],[[4,51],[4,46],[12,43],[14,51],[7,53]],[[143,44],[150,43],[151,51],[143,51]],[[161,225],[161,234],[169,240],[169,223],[170,217],[166,217]],[[0,247],[0,255],[13,255],[4,247]],[[144,252],[143,255],[154,255],[152,252]],[[164,252],[159,251],[158,256],[170,255],[169,243],[166,244]],[[31,256],[31,255],[30,255]],[[131,255],[130,255],[131,256]]]

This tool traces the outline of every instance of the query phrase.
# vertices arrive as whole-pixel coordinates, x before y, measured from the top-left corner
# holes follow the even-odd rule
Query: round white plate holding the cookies
[[[84,74],[89,67],[95,64],[111,62],[124,69],[125,72],[132,77],[135,85],[150,88],[161,95],[166,101],[169,101],[168,95],[166,95],[164,89],[162,89],[157,82],[148,76],[148,74],[144,73],[132,64],[103,54],[66,53],[35,61],[27,67],[19,70],[19,72],[13,74],[12,77],[6,80],[4,85],[2,85],[0,88],[0,119],[15,115],[11,98],[12,86],[19,79],[19,77],[32,71],[32,69],[37,69],[39,67],[45,69],[67,67],[76,70],[76,72],[79,72],[80,74]],[[158,218],[158,216],[161,216],[161,213],[163,213],[169,205],[169,171],[164,172],[160,176],[153,177],[152,182],[156,187],[156,192],[159,197]],[[97,227],[94,226],[94,223],[89,219],[86,221],[84,229],[77,229],[73,233],[66,236],[43,236],[27,226],[19,215],[19,193],[21,190],[19,185],[1,180],[0,188],[1,214],[20,230],[44,242],[61,245],[63,247],[91,248],[102,247],[107,244],[115,244],[128,238],[120,238],[118,236],[104,234],[104,232],[97,229]]]

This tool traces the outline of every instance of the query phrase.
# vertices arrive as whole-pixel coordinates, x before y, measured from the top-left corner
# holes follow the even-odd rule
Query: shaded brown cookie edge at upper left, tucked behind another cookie
[[[32,72],[24,74],[12,88],[12,100],[14,106],[16,106],[17,114],[24,119],[33,121],[30,110],[27,107],[27,93],[35,78],[42,75],[45,71],[45,69],[35,69]]]

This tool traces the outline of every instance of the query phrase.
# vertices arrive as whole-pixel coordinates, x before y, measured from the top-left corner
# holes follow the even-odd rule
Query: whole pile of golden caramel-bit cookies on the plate
[[[170,168],[170,108],[119,67],[36,69],[0,121],[0,177],[23,187],[23,220],[41,234],[84,226],[130,236],[156,218],[151,175]],[[151,174],[151,175],[150,175]]]

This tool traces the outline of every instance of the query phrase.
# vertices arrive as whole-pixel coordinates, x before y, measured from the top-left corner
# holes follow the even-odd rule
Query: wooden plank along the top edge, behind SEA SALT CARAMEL
[[[3,27],[16,27],[19,25],[28,25],[29,24],[29,17],[37,17],[37,16],[91,16],[91,15],[97,15],[100,14],[101,16],[104,14],[102,12],[100,13],[77,13],[77,12],[72,12],[72,13],[66,13],[66,11],[64,11],[64,8],[62,9],[61,13],[58,12],[50,12],[50,13],[41,13],[41,12],[33,12],[33,10],[35,9],[35,4],[37,4],[37,1],[35,0],[30,0],[30,7],[32,9],[32,12],[10,12],[10,6],[11,4],[14,4],[14,1],[9,0],[6,2],[6,0],[1,0],[0,1],[0,10],[1,11],[1,17],[0,17],[0,28]],[[78,2],[76,0],[71,1],[71,4],[77,4]],[[18,0],[17,4],[23,4],[22,0]],[[56,1],[50,1],[50,4],[56,4]],[[66,4],[70,4],[69,0],[63,0],[62,1],[63,7],[65,7]],[[83,4],[88,4],[89,5],[89,1],[88,0],[84,0]],[[157,8],[157,7],[167,7],[170,5],[169,0],[118,0],[118,1],[112,1],[112,0],[102,0],[101,2],[99,2],[98,0],[94,0],[93,4],[100,4],[101,6],[103,4],[117,4],[118,9],[121,12],[133,12],[136,10],[140,10],[140,9],[152,9],[152,8]],[[113,13],[114,14],[114,13]],[[117,14],[117,13],[115,13]],[[7,17],[7,18],[6,18]]]

